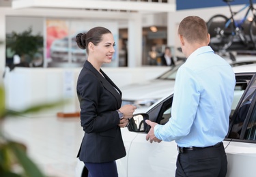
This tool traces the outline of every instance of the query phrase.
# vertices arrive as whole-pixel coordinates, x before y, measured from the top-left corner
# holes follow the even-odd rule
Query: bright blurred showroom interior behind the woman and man
[[[240,10],[244,3],[247,1],[233,2],[233,10]],[[61,106],[5,118],[0,123],[4,133],[25,144],[29,157],[48,176],[76,176],[76,153],[83,138],[76,80],[86,53],[74,45],[74,36],[96,26],[111,30],[117,44],[115,57],[102,69],[122,87],[152,80],[170,69],[150,57],[153,47],[158,57],[169,46],[175,61],[186,60],[177,38],[177,27],[184,17],[200,16],[207,22],[215,14],[229,13],[223,1],[0,0],[1,104],[20,112],[40,103],[68,99]],[[23,58],[12,50],[17,43],[12,37],[25,32],[39,37],[40,45],[33,53],[39,63],[36,67],[14,66]],[[255,50],[221,54],[228,59],[230,54],[251,58]],[[32,58],[25,60],[31,62]]]

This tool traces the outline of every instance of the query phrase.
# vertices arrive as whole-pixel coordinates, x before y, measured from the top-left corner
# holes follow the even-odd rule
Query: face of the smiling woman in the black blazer
[[[114,49],[115,41],[112,33],[106,33],[102,35],[102,41],[94,46],[94,59],[99,63],[111,63]]]

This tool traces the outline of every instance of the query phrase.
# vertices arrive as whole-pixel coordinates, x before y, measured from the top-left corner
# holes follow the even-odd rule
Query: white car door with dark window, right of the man
[[[225,141],[228,160],[227,176],[255,176],[256,162],[256,77],[237,74],[234,101],[238,101],[231,116],[229,134]],[[234,102],[233,101],[233,102]]]

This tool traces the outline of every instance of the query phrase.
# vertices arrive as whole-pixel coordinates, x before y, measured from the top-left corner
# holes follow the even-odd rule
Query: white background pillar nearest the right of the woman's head
[[[142,65],[142,24],[141,14],[128,20],[128,67]]]

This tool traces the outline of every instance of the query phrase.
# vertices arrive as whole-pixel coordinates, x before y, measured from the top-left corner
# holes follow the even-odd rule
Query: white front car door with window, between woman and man
[[[161,101],[147,112],[149,119],[164,125],[171,117],[173,96]],[[177,145],[175,142],[152,143],[145,140],[146,133],[137,133],[128,152],[128,177],[174,176]]]

